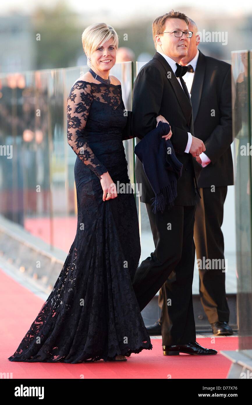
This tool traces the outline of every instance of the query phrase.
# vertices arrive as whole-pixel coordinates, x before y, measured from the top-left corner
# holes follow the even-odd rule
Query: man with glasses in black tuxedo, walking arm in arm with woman
[[[179,65],[190,43],[188,19],[182,13],[171,11],[155,19],[152,34],[157,52],[142,67],[133,86],[133,132],[142,139],[156,127],[158,116],[163,122],[169,122],[171,131],[166,139],[171,139],[183,170],[177,182],[174,207],[154,214],[151,198],[155,194],[142,163],[136,158],[136,181],[142,183],[140,201],[146,204],[155,252],[138,266],[133,288],[142,311],[162,286],[164,355],[216,354],[216,350],[205,349],[196,342],[193,314],[193,226],[199,192],[197,177],[202,169],[195,157],[205,147],[193,135],[192,105],[182,79],[187,68]],[[167,289],[164,283],[172,272],[176,281],[172,289]]]

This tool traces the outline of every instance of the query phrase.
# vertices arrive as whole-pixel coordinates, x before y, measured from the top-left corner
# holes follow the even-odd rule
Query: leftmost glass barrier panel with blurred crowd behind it
[[[49,241],[47,75],[44,71],[0,77],[0,136],[6,149],[0,160],[0,213]]]

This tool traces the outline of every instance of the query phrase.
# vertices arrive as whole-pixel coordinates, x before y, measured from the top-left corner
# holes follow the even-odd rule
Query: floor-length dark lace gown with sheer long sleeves
[[[134,194],[103,201],[100,183],[107,171],[116,185],[130,183],[126,123],[121,85],[74,83],[68,143],[77,154],[76,237],[51,294],[8,360],[106,361],[152,349],[131,283],[141,253]]]

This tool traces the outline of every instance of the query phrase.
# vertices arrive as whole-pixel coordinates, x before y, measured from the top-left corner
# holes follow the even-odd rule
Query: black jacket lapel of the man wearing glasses
[[[180,83],[178,82],[178,79],[176,78],[174,72],[172,71],[171,66],[165,60],[165,58],[163,58],[163,56],[160,55],[160,53],[158,53],[158,52],[155,53],[153,58],[157,59],[162,64],[163,68],[165,69],[166,77],[167,77],[167,73],[171,72],[171,77],[167,77],[167,80],[170,81],[170,83],[173,87],[173,90],[176,94],[176,97],[178,99],[178,103],[180,104],[180,107],[181,107],[184,117],[186,119],[186,122],[187,122],[188,126],[190,126],[191,115],[192,115],[192,105],[191,105],[190,100],[188,100],[188,97],[186,96],[184,90],[182,89]]]

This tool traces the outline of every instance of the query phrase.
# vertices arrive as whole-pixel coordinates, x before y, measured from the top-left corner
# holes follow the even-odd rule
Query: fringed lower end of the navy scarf
[[[177,197],[177,181],[172,181],[169,185],[161,188],[158,194],[155,197],[151,198],[153,206],[152,212],[156,213],[161,211],[163,213],[165,206],[167,205],[168,209],[174,206],[174,200]]]

